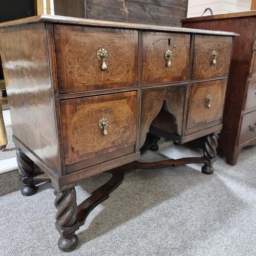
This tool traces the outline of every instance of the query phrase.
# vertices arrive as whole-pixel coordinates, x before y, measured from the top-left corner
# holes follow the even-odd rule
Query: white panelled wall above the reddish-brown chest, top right
[[[187,17],[201,16],[206,8],[214,15],[250,11],[251,0],[188,0]],[[203,16],[210,15],[207,11]]]

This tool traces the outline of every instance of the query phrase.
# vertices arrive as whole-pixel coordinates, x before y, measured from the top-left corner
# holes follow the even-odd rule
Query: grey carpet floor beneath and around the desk
[[[141,161],[201,156],[193,144],[161,139],[159,151]],[[229,166],[218,157],[215,173],[200,164],[135,170],[110,199],[97,206],[76,233],[73,252],[59,251],[54,195],[50,182],[31,197],[20,194],[17,170],[0,175],[0,255],[256,255],[256,147],[241,151]],[[111,175],[78,182],[82,202]]]

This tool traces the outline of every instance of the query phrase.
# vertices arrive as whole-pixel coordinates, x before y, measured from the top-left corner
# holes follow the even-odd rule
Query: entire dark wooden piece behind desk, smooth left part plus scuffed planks
[[[55,15],[181,27],[188,0],[54,0]]]

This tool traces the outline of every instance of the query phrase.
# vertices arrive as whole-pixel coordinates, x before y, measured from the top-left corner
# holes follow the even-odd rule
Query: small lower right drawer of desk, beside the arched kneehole
[[[211,126],[213,121],[217,121],[214,125],[221,123],[226,81],[217,80],[190,85],[186,129],[206,124],[199,129],[201,130]]]

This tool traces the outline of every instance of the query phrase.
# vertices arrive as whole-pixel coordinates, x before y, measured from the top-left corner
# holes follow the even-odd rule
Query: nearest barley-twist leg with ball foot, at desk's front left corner
[[[72,251],[78,244],[75,231],[79,229],[76,223],[76,190],[74,187],[62,192],[55,189],[54,195],[56,196],[54,206],[57,208],[55,225],[61,236],[58,240],[58,247],[61,251]]]

